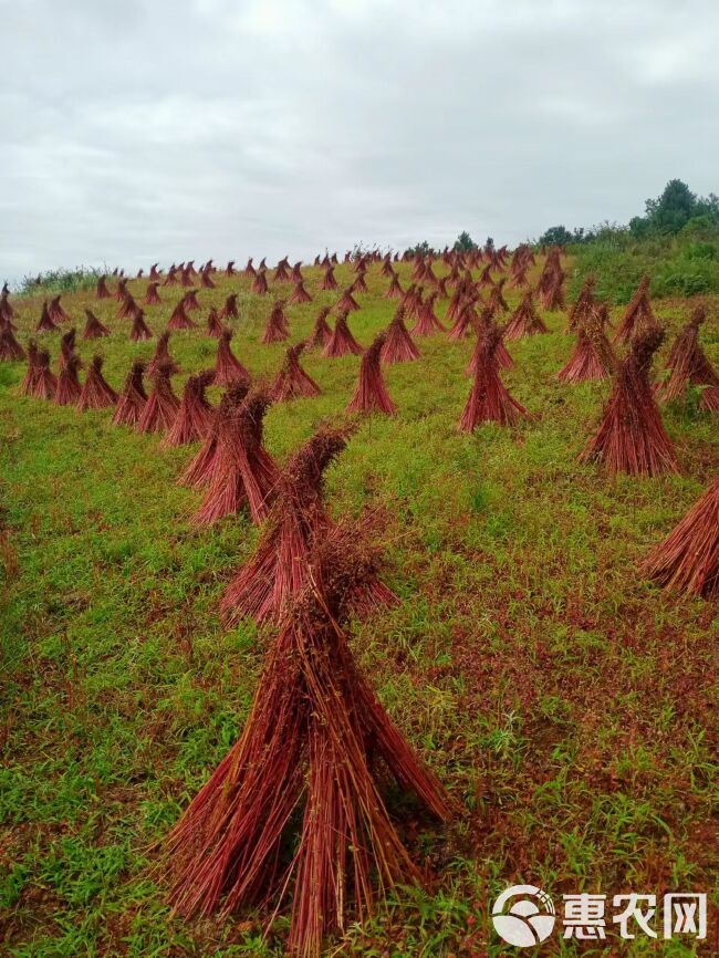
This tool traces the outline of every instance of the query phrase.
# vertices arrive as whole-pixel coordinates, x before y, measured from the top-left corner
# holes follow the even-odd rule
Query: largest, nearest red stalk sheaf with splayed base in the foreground
[[[427,811],[450,818],[441,784],[353,659],[340,625],[353,572],[341,549],[309,558],[308,586],[282,616],[244,732],[169,837],[177,912],[265,902],[275,914],[291,896],[288,950],[302,958],[369,917],[375,885],[384,895],[421,882],[383,801],[378,759]]]

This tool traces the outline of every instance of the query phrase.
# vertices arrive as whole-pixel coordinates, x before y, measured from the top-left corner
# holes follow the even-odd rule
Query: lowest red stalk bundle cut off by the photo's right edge
[[[652,550],[642,572],[677,592],[719,598],[719,476]]]

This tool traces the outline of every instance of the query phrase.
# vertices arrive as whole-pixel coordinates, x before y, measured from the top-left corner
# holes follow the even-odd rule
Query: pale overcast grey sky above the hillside
[[[716,0],[0,0],[0,279],[719,192]]]

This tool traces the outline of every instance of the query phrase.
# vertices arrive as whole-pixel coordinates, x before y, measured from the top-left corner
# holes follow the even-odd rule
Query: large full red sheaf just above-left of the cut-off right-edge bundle
[[[581,462],[601,461],[608,472],[631,476],[677,471],[674,447],[649,382],[652,360],[663,340],[663,330],[654,326],[632,341],[629,353],[617,366],[602,423],[581,454]]]

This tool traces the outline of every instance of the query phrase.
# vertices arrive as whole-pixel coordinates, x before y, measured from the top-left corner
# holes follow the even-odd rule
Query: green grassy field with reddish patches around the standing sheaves
[[[336,299],[317,290],[319,270],[305,272],[314,302],[289,309],[292,341]],[[348,267],[336,272],[351,281]],[[365,345],[396,306],[378,273],[350,319]],[[406,287],[409,268],[399,273]],[[129,289],[139,298],[145,285]],[[221,277],[194,317],[233,291],[235,352],[271,378],[285,348],[259,342],[272,296]],[[146,313],[155,333],[180,291],[160,294]],[[14,303],[24,343],[42,299]],[[79,332],[83,306],[113,329],[79,351],[102,352],[116,388],[132,358],[152,354],[154,341],[128,341],[114,300],[80,292],[63,304]],[[655,305],[671,334],[690,304]],[[363,421],[329,472],[334,514],[382,510],[386,580],[402,597],[353,627],[355,654],[463,813],[444,831],[403,816],[428,889],[407,889],[327,955],[520,954],[488,920],[488,904],[520,882],[555,904],[581,891],[691,888],[717,904],[719,608],[659,592],[636,569],[716,475],[719,429],[696,404],[665,410],[679,476],[579,466],[608,387],[558,383],[572,337],[563,314],[545,319],[550,334],[510,344],[504,374],[531,421],[459,435],[471,343],[420,341],[418,362],[386,369],[398,415]],[[715,322],[702,341],[719,364]],[[54,365],[60,335],[40,339]],[[215,348],[201,331],[173,335],[178,393]],[[270,410],[278,459],[343,416],[358,362],[304,357],[323,394]],[[251,702],[268,633],[226,632],[217,610],[258,531],[243,517],[192,528],[200,496],[175,483],[192,450],[158,449],[107,412],[20,398],[23,372],[0,364],[0,954],[280,956],[284,918],[264,941],[254,914],[170,919],[156,868]],[[713,954],[691,938],[609,940],[611,952],[555,931],[542,954]]]

